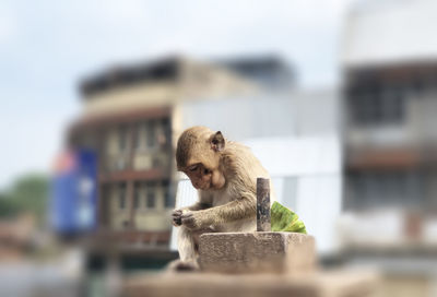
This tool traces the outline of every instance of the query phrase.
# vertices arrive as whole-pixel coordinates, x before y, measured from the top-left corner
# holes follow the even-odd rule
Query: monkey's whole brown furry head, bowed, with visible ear
[[[189,128],[177,143],[177,169],[190,178],[196,189],[218,190],[225,185],[225,177],[220,168],[224,147],[222,132],[213,132],[199,126]]]

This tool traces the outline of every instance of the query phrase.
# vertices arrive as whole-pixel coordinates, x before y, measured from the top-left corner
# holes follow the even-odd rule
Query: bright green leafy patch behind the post
[[[302,222],[302,219],[299,219],[299,216],[277,202],[273,202],[273,205],[270,210],[270,216],[272,231],[307,234],[305,224]]]

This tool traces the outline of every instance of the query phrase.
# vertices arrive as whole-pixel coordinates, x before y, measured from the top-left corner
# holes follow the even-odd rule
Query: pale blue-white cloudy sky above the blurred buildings
[[[0,188],[48,171],[84,75],[166,54],[279,54],[304,87],[338,82],[349,0],[0,2]]]

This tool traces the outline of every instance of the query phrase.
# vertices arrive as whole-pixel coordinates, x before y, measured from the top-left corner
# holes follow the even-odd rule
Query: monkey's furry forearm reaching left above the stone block
[[[255,215],[256,211],[257,202],[255,197],[243,197],[224,205],[182,214],[181,223],[188,228],[199,229],[246,218]]]

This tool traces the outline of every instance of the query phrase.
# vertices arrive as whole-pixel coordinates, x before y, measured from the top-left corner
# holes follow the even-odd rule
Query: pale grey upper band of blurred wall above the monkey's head
[[[220,130],[236,141],[335,134],[339,133],[339,105],[335,88],[187,100],[175,110],[175,135],[199,124]]]

